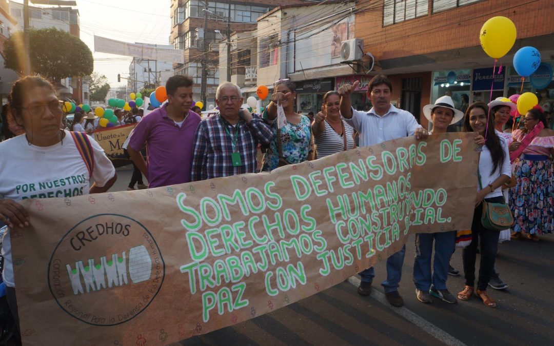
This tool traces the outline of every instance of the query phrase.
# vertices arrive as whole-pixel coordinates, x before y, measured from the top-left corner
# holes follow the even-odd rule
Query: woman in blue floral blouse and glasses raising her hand
[[[263,113],[263,119],[271,125],[273,131],[273,140],[265,152],[261,168],[266,172],[312,159],[310,119],[294,112],[296,91],[293,83],[290,80],[279,80],[273,88],[271,102]],[[283,106],[286,117],[286,123],[281,128],[278,127],[277,104]]]

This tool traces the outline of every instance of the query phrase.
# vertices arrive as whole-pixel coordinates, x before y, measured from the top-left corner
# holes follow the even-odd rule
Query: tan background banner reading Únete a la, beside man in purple
[[[106,127],[93,132],[94,139],[104,152],[106,156],[112,161],[115,167],[125,166],[131,164],[131,161],[125,156],[123,148],[121,147],[131,130],[135,128],[135,124],[121,125],[115,127]]]

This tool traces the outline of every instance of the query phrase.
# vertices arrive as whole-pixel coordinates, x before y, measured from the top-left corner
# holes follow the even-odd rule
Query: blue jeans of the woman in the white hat
[[[431,255],[435,241],[435,257],[431,271]],[[414,283],[421,291],[429,291],[431,284],[437,290],[447,289],[448,264],[456,246],[456,231],[416,234]]]

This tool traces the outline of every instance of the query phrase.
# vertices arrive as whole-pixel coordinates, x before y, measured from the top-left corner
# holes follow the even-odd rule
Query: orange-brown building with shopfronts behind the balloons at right
[[[459,108],[466,97],[470,104],[489,102],[491,85],[493,99],[520,91],[536,92],[540,103],[554,99],[552,0],[362,0],[357,8],[355,37],[363,40],[365,53],[375,56],[376,70],[391,79],[394,102],[423,126],[428,126],[424,105],[443,95],[452,95]],[[494,59],[481,48],[479,34],[495,16],[514,22],[517,39],[493,75]],[[525,46],[540,51],[542,64],[522,85],[512,60]]]

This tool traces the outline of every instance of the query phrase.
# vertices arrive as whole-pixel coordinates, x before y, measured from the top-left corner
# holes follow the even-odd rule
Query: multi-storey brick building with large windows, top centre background
[[[290,0],[289,3],[306,1]],[[171,0],[171,36],[170,42],[176,49],[184,49],[186,63],[173,64],[175,74],[189,75],[194,79],[194,95],[199,99],[202,82],[202,58],[204,40],[209,45],[207,60],[207,100],[204,104],[214,104],[219,76],[218,42],[227,38],[228,20],[230,30],[253,30],[258,17],[279,6],[276,0],[266,1],[219,1],[204,2],[198,0]],[[207,5],[207,6],[206,6]],[[229,8],[230,6],[230,8]],[[204,11],[207,7],[208,11]],[[230,17],[229,17],[230,12]],[[208,17],[204,28],[205,17]],[[226,51],[226,49],[225,49]],[[226,76],[226,71],[223,76]],[[198,96],[196,96],[198,95]]]

